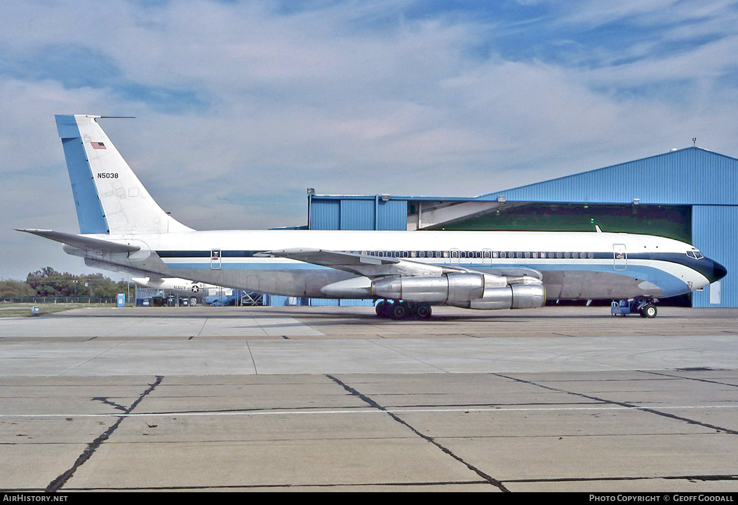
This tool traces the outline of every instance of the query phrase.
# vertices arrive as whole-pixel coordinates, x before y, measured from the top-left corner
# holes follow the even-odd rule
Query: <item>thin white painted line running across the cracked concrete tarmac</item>
[[[284,416],[307,414],[357,414],[357,413],[443,413],[443,412],[558,412],[562,410],[682,410],[706,408],[738,408],[738,405],[675,405],[672,407],[531,407],[531,408],[407,408],[379,410],[373,407],[351,410],[234,410],[232,412],[152,412],[152,413],[56,413],[56,414],[22,414],[6,413],[2,417],[170,417],[170,416]]]

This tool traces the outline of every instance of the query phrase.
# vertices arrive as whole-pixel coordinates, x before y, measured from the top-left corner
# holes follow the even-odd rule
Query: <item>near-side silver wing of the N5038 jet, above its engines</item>
[[[365,275],[368,278],[385,275],[441,275],[446,272],[466,272],[466,269],[411,261],[407,258],[386,258],[367,254],[343,253],[323,249],[280,249],[256,253],[262,258],[289,258],[345,272]]]

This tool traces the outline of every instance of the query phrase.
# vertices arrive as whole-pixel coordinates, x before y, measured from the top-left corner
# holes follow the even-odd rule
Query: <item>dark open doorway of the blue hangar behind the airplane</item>
[[[462,218],[427,230],[591,231],[641,233],[692,243],[692,205],[610,205],[508,202],[489,213]],[[697,244],[697,247],[700,247]],[[716,258],[718,261],[719,258]],[[703,295],[698,293],[698,295]],[[612,300],[593,300],[610,305]],[[549,300],[549,304],[556,300]],[[567,302],[581,305],[584,301]],[[692,295],[663,298],[661,305],[692,306]]]

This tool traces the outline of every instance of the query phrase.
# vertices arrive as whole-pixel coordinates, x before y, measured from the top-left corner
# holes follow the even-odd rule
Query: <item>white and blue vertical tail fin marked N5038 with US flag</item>
[[[191,231],[154,202],[97,124],[99,117],[56,116],[80,233]]]

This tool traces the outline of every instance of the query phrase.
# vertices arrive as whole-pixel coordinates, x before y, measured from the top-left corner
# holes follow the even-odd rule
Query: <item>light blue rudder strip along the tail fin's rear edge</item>
[[[56,125],[64,148],[69,182],[72,183],[80,233],[109,233],[108,220],[105,218],[100,197],[97,196],[77,121],[72,115],[58,115]]]

